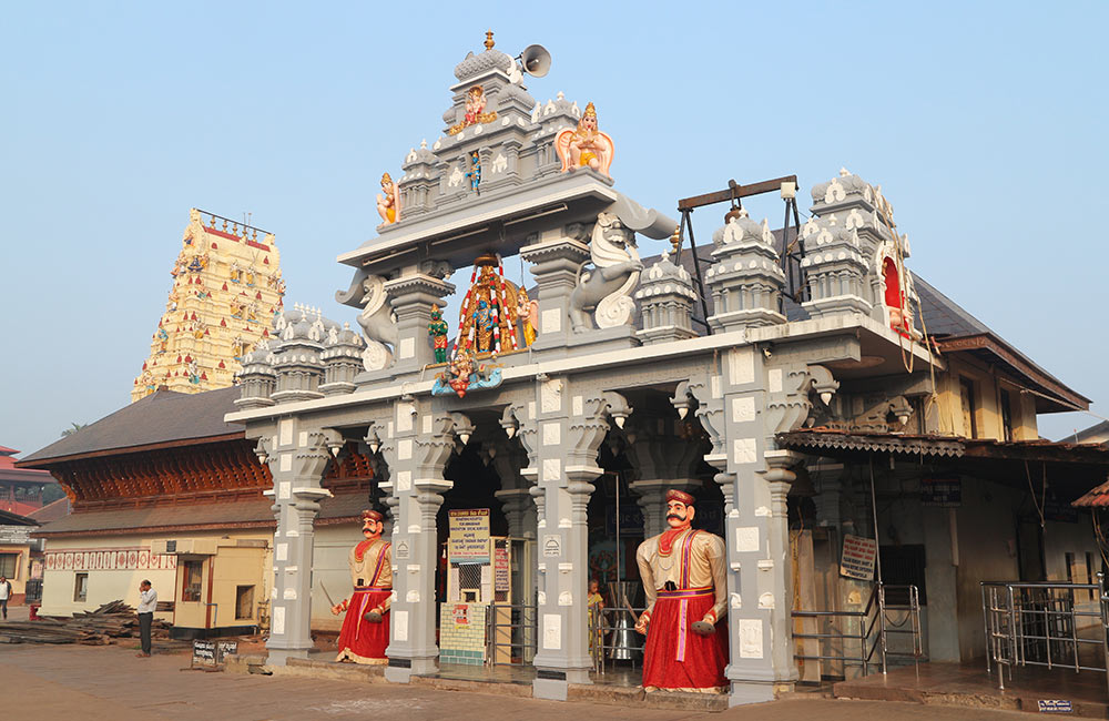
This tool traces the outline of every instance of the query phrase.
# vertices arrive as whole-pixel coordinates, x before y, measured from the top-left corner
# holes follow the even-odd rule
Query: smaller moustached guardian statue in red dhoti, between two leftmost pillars
[[[393,544],[381,539],[385,518],[376,510],[362,511],[362,535],[366,540],[350,549],[350,580],[354,596],[332,607],[338,616],[346,611],[339,633],[336,661],[385,663],[389,644],[389,601],[393,596]]]

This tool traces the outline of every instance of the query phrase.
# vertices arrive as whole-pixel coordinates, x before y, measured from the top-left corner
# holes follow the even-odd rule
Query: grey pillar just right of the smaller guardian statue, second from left
[[[436,514],[451,481],[442,477],[455,450],[456,434],[472,427],[460,414],[433,412],[430,399],[401,398],[385,424],[380,451],[389,466],[381,484],[391,497],[393,603],[389,611],[389,663],[385,678],[407,683],[413,674],[438,670],[435,642],[435,569],[438,562]],[[391,504],[390,504],[391,505]]]

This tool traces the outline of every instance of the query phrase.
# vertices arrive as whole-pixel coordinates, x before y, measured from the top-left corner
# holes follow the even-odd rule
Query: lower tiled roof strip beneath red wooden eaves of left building
[[[274,525],[273,501],[268,498],[234,502],[181,504],[147,508],[119,508],[70,514],[40,528],[41,536],[88,532],[143,534],[151,528],[199,529]],[[342,494],[319,501],[321,521],[357,517],[368,506],[366,494]]]

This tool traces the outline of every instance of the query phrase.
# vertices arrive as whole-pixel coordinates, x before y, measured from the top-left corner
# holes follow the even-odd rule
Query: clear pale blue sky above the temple
[[[439,135],[487,28],[551,51],[529,90],[593,101],[645,205],[796,173],[806,209],[842,165],[882,184],[910,267],[1109,415],[1107,21],[1105,2],[9,3],[0,445],[129,402],[191,206],[253,213],[287,303],[353,321],[335,256],[374,235],[377,180]],[[776,199],[751,207],[781,223]],[[708,240],[719,213],[695,217]]]

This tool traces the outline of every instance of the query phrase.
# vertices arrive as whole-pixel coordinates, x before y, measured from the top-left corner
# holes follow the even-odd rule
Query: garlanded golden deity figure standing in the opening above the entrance
[[[455,344],[474,355],[497,355],[520,347],[516,331],[519,290],[505,280],[496,255],[481,255],[474,262],[470,290],[462,298],[458,338]]]

